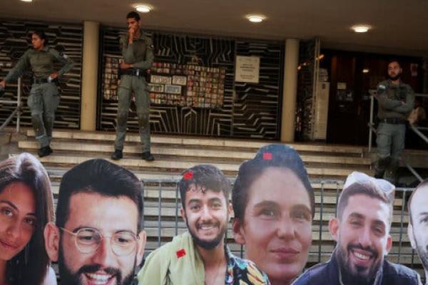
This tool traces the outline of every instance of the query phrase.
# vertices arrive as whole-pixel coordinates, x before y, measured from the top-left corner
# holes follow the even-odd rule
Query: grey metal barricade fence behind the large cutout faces
[[[55,171],[55,174],[58,175],[59,172]],[[164,234],[164,229],[171,229],[173,232],[173,236],[180,234],[180,231],[185,229],[185,224],[180,222],[181,217],[178,214],[178,210],[180,209],[180,193],[178,190],[178,178],[175,179],[143,179],[143,195],[148,195],[148,191],[152,192],[151,200],[148,202],[148,199],[143,199],[143,203],[151,203],[145,204],[143,207],[143,211],[147,211],[147,209],[151,208],[150,212],[143,212],[143,221],[150,216],[151,219],[147,219],[148,223],[145,225],[145,229],[151,229],[153,232],[156,232],[156,239],[154,239],[153,244],[151,246],[146,247],[146,256],[147,254],[153,252],[158,247],[165,242],[166,234]],[[233,179],[230,179],[230,182],[233,182]],[[171,185],[171,183],[175,185]],[[325,215],[331,215],[331,208],[335,207],[337,209],[337,200],[340,197],[342,192],[342,188],[344,185],[343,180],[325,180],[325,179],[310,179],[311,185],[320,184],[317,186],[317,190],[315,190],[315,196],[318,198],[315,207],[316,216],[316,229],[317,229],[317,238],[312,239],[312,249],[310,250],[310,256],[315,258],[315,263],[320,263],[324,259],[325,256],[330,257],[331,250],[330,247],[333,243],[330,239],[325,239],[323,237],[323,233],[327,232],[327,225],[325,223]],[[325,185],[335,185],[326,187]],[[409,257],[410,262],[407,265],[414,267],[417,264],[414,262],[416,252],[412,250],[409,242],[404,241],[404,237],[407,232],[407,222],[405,217],[408,216],[407,212],[407,201],[409,199],[409,194],[414,191],[412,187],[397,187],[395,191],[395,199],[401,199],[399,205],[394,206],[394,209],[399,212],[394,212],[395,222],[394,229],[398,229],[398,232],[393,237],[394,248],[397,249],[397,252],[388,254],[388,258],[398,259],[398,261],[402,261],[404,257]],[[169,192],[168,195],[164,195],[165,192]],[[175,192],[175,193],[173,193]],[[175,197],[175,198],[173,198]],[[335,204],[327,204],[326,197],[335,197]],[[165,205],[168,203],[169,205]],[[163,212],[163,209],[174,209],[173,216],[170,217],[168,214]],[[335,213],[336,214],[336,213]],[[168,216],[168,221],[165,221],[164,217]],[[146,221],[146,222],[147,222]],[[323,222],[324,221],[324,222]],[[315,225],[315,224],[314,224]],[[231,229],[232,224],[228,224],[228,229]],[[313,228],[315,229],[315,227]],[[171,237],[168,237],[168,240]],[[233,241],[233,237],[226,237],[226,241],[230,246],[233,246],[233,252],[238,254],[239,256],[244,256],[244,248],[239,247],[236,242]],[[420,262],[420,261],[419,261]],[[420,264],[420,263],[419,263]]]

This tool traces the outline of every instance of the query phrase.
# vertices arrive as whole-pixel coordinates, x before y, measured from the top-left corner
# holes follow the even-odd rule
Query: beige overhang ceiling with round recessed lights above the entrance
[[[126,14],[138,1],[2,0],[1,19],[34,19],[81,23],[98,21],[125,26]],[[153,11],[141,14],[143,25],[168,31],[285,40],[320,37],[322,47],[355,51],[428,54],[428,1],[350,0],[152,0]],[[252,24],[245,15],[263,14],[269,21]],[[350,27],[370,24],[368,33]]]

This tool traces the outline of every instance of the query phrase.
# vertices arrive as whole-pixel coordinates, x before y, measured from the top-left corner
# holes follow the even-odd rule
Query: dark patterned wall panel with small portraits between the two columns
[[[117,61],[118,65],[116,58],[121,55],[118,35],[121,31],[108,27],[101,31],[100,130],[114,130],[116,125],[118,83],[116,71],[108,68],[110,62]],[[146,31],[146,35],[152,38],[155,47],[151,76],[158,76],[149,79],[153,133],[279,137],[282,44],[158,31]],[[235,83],[236,55],[260,56],[259,84]],[[177,70],[180,74],[175,74]],[[162,76],[170,77],[171,84]],[[173,84],[174,76],[184,76],[185,79],[175,78],[177,84]],[[178,82],[183,83],[180,88]],[[128,128],[133,131],[138,128],[134,105],[131,105]]]

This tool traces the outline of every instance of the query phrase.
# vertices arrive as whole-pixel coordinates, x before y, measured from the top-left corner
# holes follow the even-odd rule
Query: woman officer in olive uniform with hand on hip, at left
[[[4,81],[0,82],[3,88],[12,79],[22,76],[27,68],[33,71],[33,85],[27,100],[31,111],[36,140],[39,141],[39,157],[52,153],[49,146],[54,128],[55,111],[58,107],[59,96],[56,82],[73,67],[73,62],[64,54],[58,53],[48,46],[48,38],[44,31],[34,31],[31,35],[33,48],[29,49],[19,58],[16,66],[9,71]],[[54,63],[59,62],[62,68],[54,71]]]

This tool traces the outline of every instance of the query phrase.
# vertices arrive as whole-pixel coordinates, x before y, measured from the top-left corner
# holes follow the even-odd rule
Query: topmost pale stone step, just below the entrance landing
[[[34,137],[34,130],[27,130],[26,134],[29,137]],[[73,139],[73,140],[101,140],[113,142],[116,138],[115,133],[111,132],[86,132],[81,130],[54,130],[52,134],[56,139]],[[140,137],[136,133],[128,133],[126,142],[140,142]],[[196,146],[212,146],[212,147],[233,147],[233,148],[253,148],[259,149],[264,145],[271,143],[279,143],[270,140],[238,140],[225,138],[208,138],[208,137],[183,137],[183,136],[168,136],[168,135],[152,135],[152,143],[173,144],[173,145],[196,145]],[[290,143],[287,144],[294,147],[297,151],[312,151],[312,152],[332,152],[345,153],[347,155],[363,155],[363,147],[352,147],[347,145],[324,145],[324,144],[308,144],[308,143]]]

